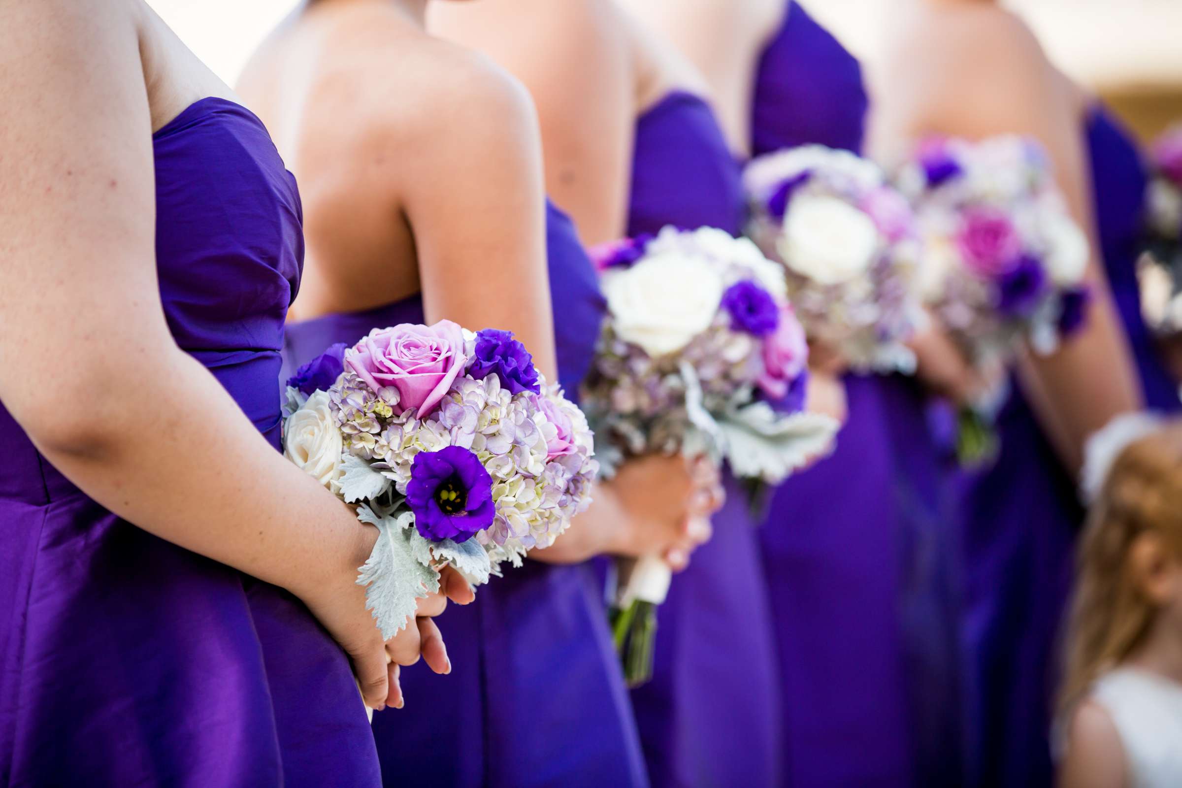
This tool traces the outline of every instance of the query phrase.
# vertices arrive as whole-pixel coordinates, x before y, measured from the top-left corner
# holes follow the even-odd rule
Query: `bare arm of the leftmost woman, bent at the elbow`
[[[20,371],[0,399],[111,512],[299,595],[379,706],[383,644],[353,584],[374,529],[274,451],[165,325],[138,52],[123,4],[0,6],[0,365]]]

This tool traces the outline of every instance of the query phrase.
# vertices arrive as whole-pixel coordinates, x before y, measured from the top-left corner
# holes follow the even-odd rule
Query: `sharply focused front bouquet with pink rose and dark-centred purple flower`
[[[509,332],[375,328],[301,366],[286,398],[285,455],[381,532],[357,582],[383,638],[439,591],[437,567],[487,582],[590,504],[586,418]]]

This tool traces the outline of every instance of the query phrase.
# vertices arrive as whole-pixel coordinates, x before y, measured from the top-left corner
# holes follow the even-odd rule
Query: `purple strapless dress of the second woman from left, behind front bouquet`
[[[547,203],[559,380],[578,393],[603,298],[574,226]],[[421,323],[415,295],[288,326],[293,369],[371,328]],[[469,326],[482,328],[483,326]],[[576,526],[578,527],[578,526]],[[526,561],[439,619],[452,673],[403,669],[404,710],[374,716],[388,786],[647,786],[639,741],[590,565]]]

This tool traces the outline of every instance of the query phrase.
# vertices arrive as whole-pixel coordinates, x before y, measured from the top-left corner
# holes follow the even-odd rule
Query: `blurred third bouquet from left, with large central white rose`
[[[808,337],[858,371],[914,372],[905,341],[926,317],[907,200],[873,163],[805,145],[747,165],[748,235],[787,269]]]

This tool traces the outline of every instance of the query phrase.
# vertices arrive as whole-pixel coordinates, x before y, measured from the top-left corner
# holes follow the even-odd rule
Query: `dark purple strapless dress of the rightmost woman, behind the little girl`
[[[1180,409],[1141,317],[1136,278],[1145,175],[1104,109],[1087,119],[1093,208],[1112,297],[1150,408]],[[1001,455],[966,486],[966,637],[974,657],[974,783],[1052,782],[1048,744],[1057,645],[1084,512],[1076,486],[1017,390],[998,423]]]

